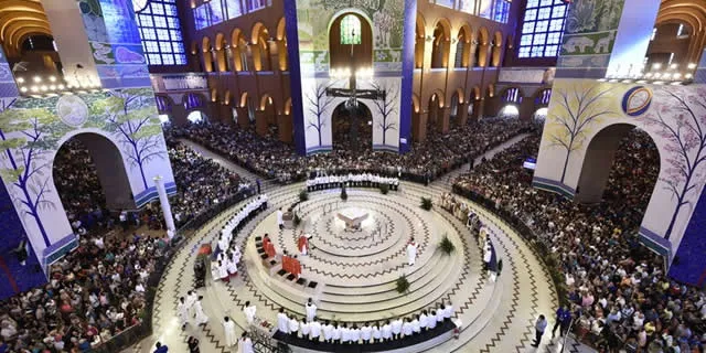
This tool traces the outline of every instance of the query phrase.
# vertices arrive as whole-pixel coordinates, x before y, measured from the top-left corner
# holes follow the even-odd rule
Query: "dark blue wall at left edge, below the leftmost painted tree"
[[[26,291],[46,282],[40,261],[31,246],[25,266],[12,252],[25,237],[22,222],[14,211],[4,184],[0,182],[0,299]]]

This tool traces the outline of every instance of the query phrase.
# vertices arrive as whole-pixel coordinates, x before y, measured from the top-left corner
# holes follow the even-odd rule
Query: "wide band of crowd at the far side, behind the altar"
[[[372,171],[424,181],[435,179],[475,158],[510,138],[534,129],[531,122],[517,119],[484,119],[482,122],[456,127],[449,133],[430,133],[424,142],[413,146],[406,154],[375,151],[370,136],[350,143],[334,143],[328,153],[301,157],[292,146],[274,138],[259,137],[252,129],[223,124],[195,124],[171,128],[170,133],[188,138],[257,174],[281,182],[302,181],[315,170],[347,174],[349,171]]]

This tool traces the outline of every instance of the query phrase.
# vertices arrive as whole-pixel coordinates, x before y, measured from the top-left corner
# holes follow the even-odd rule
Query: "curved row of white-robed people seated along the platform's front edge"
[[[317,306],[310,298],[304,304],[307,315],[297,318],[287,314],[285,308],[277,313],[277,331],[293,339],[335,344],[368,344],[404,340],[434,330],[438,324],[453,318],[453,306],[441,303],[438,308],[422,310],[407,318],[394,318],[379,322],[345,323],[319,320]]]

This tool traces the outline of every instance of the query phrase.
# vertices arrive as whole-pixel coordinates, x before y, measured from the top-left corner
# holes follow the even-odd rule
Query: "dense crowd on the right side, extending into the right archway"
[[[703,352],[706,296],[671,281],[637,236],[659,173],[650,137],[635,129],[622,140],[598,205],[533,189],[523,161],[538,147],[538,136],[524,139],[459,176],[454,191],[516,217],[547,246],[579,340],[609,352]]]

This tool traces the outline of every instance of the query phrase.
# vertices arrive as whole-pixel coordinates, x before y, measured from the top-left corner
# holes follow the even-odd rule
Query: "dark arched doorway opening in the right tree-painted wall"
[[[645,131],[629,124],[600,130],[586,150],[575,200],[618,203],[634,224],[642,222],[660,173],[660,152]]]

